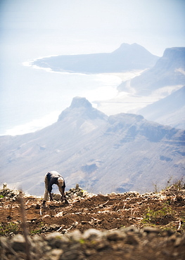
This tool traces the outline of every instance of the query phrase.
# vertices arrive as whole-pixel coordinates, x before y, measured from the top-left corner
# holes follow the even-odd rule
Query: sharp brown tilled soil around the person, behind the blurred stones
[[[42,200],[39,197],[30,196],[24,197],[24,204],[27,229],[31,236],[34,234],[45,236],[54,231],[66,233],[66,230],[78,229],[84,232],[89,228],[115,230],[129,226],[139,229],[144,226],[155,226],[171,233],[184,234],[185,232],[184,190],[166,190],[160,193],[160,196],[132,196],[122,193],[77,197],[69,204],[58,201],[47,202],[45,208],[41,207]],[[2,197],[0,213],[1,235],[11,238],[16,233],[23,234],[19,199],[11,201],[7,197]],[[149,252],[148,247],[148,258],[144,255],[145,259],[149,259]],[[115,250],[113,253],[110,249],[104,250],[99,258],[96,256],[96,259],[110,259],[109,254],[111,258],[115,256],[115,259],[122,259],[119,252]],[[139,259],[137,254],[138,252],[135,259]]]

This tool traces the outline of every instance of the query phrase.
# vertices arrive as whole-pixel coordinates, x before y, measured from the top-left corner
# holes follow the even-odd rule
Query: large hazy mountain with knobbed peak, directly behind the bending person
[[[75,183],[94,193],[153,190],[184,174],[185,131],[141,115],[107,117],[74,98],[58,122],[23,136],[0,136],[0,183],[44,193],[44,174],[56,170],[67,190]]]

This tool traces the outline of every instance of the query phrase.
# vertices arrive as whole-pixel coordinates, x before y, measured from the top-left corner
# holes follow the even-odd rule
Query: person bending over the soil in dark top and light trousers
[[[53,184],[56,184],[58,186],[58,189],[60,190],[61,194],[61,201],[65,200],[65,204],[68,204],[68,200],[65,197],[65,180],[64,178],[58,174],[57,171],[49,171],[45,175],[45,191],[44,191],[44,200],[43,205],[45,205],[46,201],[48,200],[48,197],[50,197],[50,200],[53,200],[53,197],[51,195],[51,190]]]

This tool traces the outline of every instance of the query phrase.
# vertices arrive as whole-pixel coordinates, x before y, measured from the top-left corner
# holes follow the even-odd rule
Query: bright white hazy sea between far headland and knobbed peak
[[[32,65],[33,61],[18,58],[1,63],[1,136],[27,134],[53,124],[75,96],[87,98],[96,108],[94,101],[115,97],[122,82],[115,74],[53,72]]]

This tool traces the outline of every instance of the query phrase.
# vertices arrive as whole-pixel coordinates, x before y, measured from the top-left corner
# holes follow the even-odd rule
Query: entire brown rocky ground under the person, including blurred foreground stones
[[[1,259],[185,259],[185,190],[94,195],[69,204],[0,190]]]

